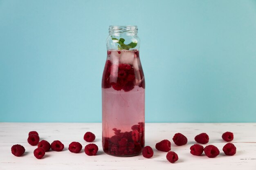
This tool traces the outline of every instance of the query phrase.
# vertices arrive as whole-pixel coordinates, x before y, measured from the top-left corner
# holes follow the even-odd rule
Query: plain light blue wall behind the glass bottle
[[[100,122],[109,25],[137,25],[147,122],[256,122],[255,0],[0,0],[0,121]]]

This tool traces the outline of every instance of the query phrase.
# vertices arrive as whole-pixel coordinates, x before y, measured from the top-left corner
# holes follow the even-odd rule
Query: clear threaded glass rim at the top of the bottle
[[[137,26],[109,26],[110,36],[137,36]]]

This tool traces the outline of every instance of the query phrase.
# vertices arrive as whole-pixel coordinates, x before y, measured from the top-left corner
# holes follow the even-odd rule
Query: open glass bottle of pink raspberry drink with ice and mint
[[[145,78],[137,26],[110,26],[102,76],[102,146],[117,157],[144,147]]]

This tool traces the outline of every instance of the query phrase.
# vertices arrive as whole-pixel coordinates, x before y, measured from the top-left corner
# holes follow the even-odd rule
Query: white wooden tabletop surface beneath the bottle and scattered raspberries
[[[150,159],[142,155],[135,157],[113,157],[106,155],[101,147],[100,123],[0,123],[0,170],[256,170],[256,123],[227,123],[227,124],[195,124],[195,123],[146,123],[146,146],[151,146],[154,156]],[[43,159],[36,159],[33,151],[36,146],[27,143],[28,132],[36,130],[40,140],[50,143],[60,140],[65,145],[62,152],[46,152]],[[83,140],[85,132],[91,131],[96,135],[93,142],[99,147],[96,156],[87,156],[82,150],[78,154],[71,153],[67,148],[72,141],[78,141],[83,149],[88,142]],[[222,140],[223,132],[234,132],[232,143],[237,152],[234,156],[225,156],[222,147],[227,143]],[[188,138],[188,144],[176,146],[173,135],[176,132]],[[190,146],[195,144],[194,137],[201,132],[209,135],[209,143],[217,146],[220,155],[208,158],[190,154]],[[155,149],[155,144],[162,140],[171,141],[171,150],[176,152],[179,160],[169,163],[166,152]],[[11,154],[11,146],[21,144],[26,152],[22,157]],[[205,144],[203,146],[207,146]]]

